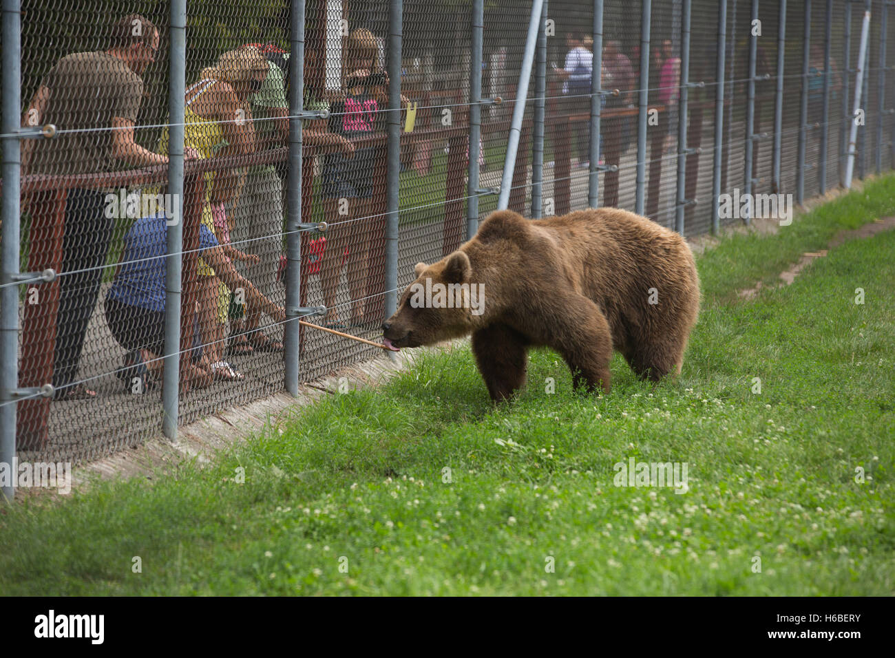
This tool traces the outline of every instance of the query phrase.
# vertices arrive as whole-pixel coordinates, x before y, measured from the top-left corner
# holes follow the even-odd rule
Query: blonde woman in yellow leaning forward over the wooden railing
[[[218,57],[217,63],[204,69],[200,80],[186,90],[184,145],[199,151],[202,158],[251,153],[255,138],[248,98],[260,89],[267,74],[268,62],[256,48],[238,48]],[[163,150],[167,149],[167,135],[166,130],[162,134]],[[248,254],[240,250],[230,252],[227,245],[231,226],[225,213],[226,203],[238,203],[245,180],[244,168],[221,169],[204,176],[202,225],[216,235],[218,243],[224,245],[225,253],[231,258],[256,261],[257,254],[243,258]],[[231,291],[204,259],[199,260],[197,273],[202,342],[209,353],[214,377],[242,380],[243,374],[222,359]]]

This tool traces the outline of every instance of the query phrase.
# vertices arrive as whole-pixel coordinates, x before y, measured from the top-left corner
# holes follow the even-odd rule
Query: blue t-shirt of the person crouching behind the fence
[[[107,298],[148,311],[165,311],[167,223],[164,213],[137,219],[124,235],[121,267]],[[217,238],[199,227],[201,251],[217,247]]]

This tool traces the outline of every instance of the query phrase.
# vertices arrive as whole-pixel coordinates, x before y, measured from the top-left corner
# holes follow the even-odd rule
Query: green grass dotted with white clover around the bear
[[[0,516],[0,592],[892,594],[895,232],[730,292],[893,206],[890,176],[700,258],[678,382],[617,357],[612,392],[579,396],[543,350],[494,407],[468,349],[432,355],[204,469],[22,501]],[[614,486],[629,457],[686,462],[688,491]]]

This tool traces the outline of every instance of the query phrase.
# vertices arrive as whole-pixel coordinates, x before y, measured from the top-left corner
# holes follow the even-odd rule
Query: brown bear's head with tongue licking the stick
[[[433,345],[468,335],[484,312],[484,285],[473,282],[465,252],[437,263],[417,263],[416,279],[401,296],[397,311],[382,324],[383,342],[392,351]]]

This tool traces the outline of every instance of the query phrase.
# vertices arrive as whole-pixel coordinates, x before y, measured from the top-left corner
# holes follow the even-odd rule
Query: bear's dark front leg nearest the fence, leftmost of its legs
[[[493,324],[473,331],[473,355],[493,401],[512,397],[525,385],[528,341],[514,329]]]

